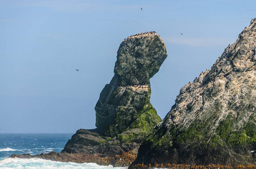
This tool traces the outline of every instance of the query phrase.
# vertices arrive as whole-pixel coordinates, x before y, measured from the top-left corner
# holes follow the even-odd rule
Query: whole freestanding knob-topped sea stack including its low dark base
[[[96,129],[78,130],[62,152],[111,156],[134,154],[161,121],[150,103],[150,78],[159,71],[167,52],[155,32],[128,37],[120,45],[114,77],[95,106]]]

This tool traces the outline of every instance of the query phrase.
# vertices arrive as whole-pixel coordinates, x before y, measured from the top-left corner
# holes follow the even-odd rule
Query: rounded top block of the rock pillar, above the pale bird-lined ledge
[[[164,42],[156,33],[133,35],[123,41],[117,51],[116,86],[147,85],[167,57]],[[118,78],[118,80],[116,80]]]

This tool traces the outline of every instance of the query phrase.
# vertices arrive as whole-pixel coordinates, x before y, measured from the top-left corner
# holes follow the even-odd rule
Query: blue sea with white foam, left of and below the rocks
[[[11,154],[32,155],[61,152],[72,134],[0,134],[0,168],[127,168],[98,166],[95,163],[65,163],[45,159],[8,158]]]

